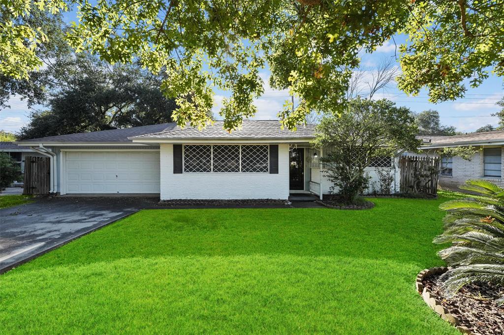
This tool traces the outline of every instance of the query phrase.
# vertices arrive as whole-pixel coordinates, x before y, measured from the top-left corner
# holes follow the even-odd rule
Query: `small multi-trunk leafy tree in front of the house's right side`
[[[385,99],[350,100],[341,116],[322,118],[316,129],[313,144],[324,148],[321,160],[328,166],[327,177],[347,203],[366,188],[364,169],[373,158],[420,146],[411,111]]]

